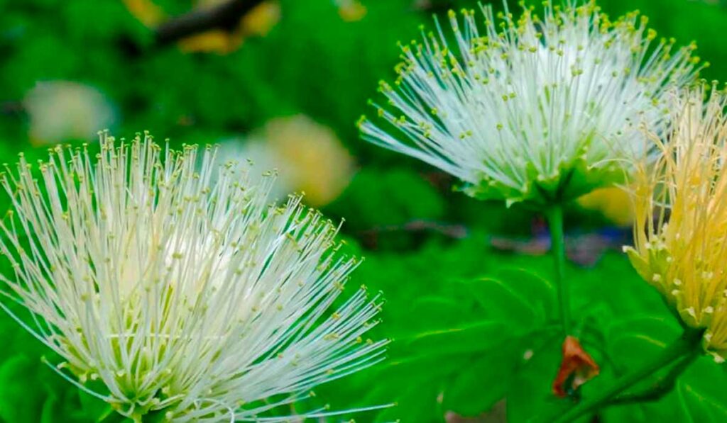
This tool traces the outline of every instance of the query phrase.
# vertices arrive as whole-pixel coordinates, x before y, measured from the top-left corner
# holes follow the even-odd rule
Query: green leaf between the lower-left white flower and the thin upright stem
[[[427,245],[414,255],[397,257],[395,261],[380,255],[366,260],[358,278],[373,276],[366,284],[385,289],[389,304],[417,299],[409,301],[409,307],[385,307],[386,324],[380,329],[393,337],[389,358],[358,377],[358,382],[341,385],[361,389],[362,404],[398,403],[379,414],[377,421],[441,421],[446,411],[476,416],[515,392],[523,375],[532,373],[531,361],[540,361],[542,345],[549,338],[552,344],[553,334],[558,333],[553,325],[553,287],[519,268],[520,258],[492,255],[482,237],[451,246]],[[498,263],[503,259],[505,263]],[[371,266],[376,266],[375,274]],[[495,277],[473,278],[483,269],[490,269]],[[395,276],[399,271],[414,271],[415,280],[408,278],[414,286],[401,284]],[[513,283],[505,283],[505,278]],[[411,291],[427,294],[412,295]],[[541,385],[545,397],[558,365],[557,346],[554,351],[555,366],[547,369],[545,385]],[[377,381],[374,389],[371,380]],[[346,390],[339,384],[329,389],[324,388],[322,396]],[[528,397],[526,403],[531,403],[531,392],[521,392],[526,393],[523,400]],[[518,403],[515,396],[512,399]]]

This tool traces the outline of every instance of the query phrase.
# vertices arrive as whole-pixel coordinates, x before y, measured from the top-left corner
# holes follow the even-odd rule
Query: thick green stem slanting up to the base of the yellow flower
[[[656,373],[656,371],[659,371],[664,366],[672,364],[678,358],[694,353],[695,350],[701,347],[703,334],[704,329],[687,329],[677,340],[668,345],[667,348],[664,348],[656,356],[654,361],[649,361],[638,369],[635,369],[631,374],[627,374],[625,377],[616,380],[614,385],[606,387],[606,389],[596,393],[593,398],[579,403],[579,405],[566,411],[565,414],[561,414],[558,419],[554,419],[553,422],[573,422],[585,414],[607,406],[613,398],[624,392],[624,390],[651,376],[651,374]]]

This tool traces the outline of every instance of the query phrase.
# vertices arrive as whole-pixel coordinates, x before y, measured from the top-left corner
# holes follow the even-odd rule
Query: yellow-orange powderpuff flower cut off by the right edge
[[[704,346],[727,353],[727,97],[712,89],[677,96],[667,134],[651,134],[654,163],[634,176],[634,247],[624,247],[640,276],[690,327],[706,328]],[[654,218],[656,216],[656,218]]]

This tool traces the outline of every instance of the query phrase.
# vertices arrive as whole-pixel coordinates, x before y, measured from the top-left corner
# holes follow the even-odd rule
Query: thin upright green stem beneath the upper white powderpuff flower
[[[566,270],[566,243],[563,237],[563,205],[552,205],[546,211],[548,228],[550,229],[550,250],[555,260],[555,284],[558,289],[558,300],[561,305],[561,323],[563,335],[571,334],[571,303],[569,300],[568,282],[564,276]]]

